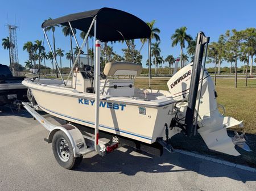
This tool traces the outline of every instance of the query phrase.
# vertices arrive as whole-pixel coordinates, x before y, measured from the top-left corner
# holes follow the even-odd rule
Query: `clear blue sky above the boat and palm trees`
[[[149,22],[156,20],[155,27],[160,29],[160,48],[161,54],[165,58],[168,54],[175,57],[179,56],[180,48],[171,47],[171,35],[176,28],[186,26],[187,33],[193,38],[197,32],[203,31],[205,35],[210,36],[210,41],[217,41],[220,34],[225,33],[227,29],[236,28],[237,30],[247,27],[256,27],[256,1],[6,1],[1,0],[0,11],[0,39],[8,36],[7,15],[9,23],[19,24],[17,31],[19,63],[24,65],[24,61],[28,60],[27,52],[22,50],[23,44],[27,41],[35,41],[43,39],[42,22],[51,17],[81,12],[92,9],[100,9],[101,7],[112,7],[123,11],[130,12],[138,16],[142,20]],[[11,9],[10,9],[11,7]],[[51,36],[49,36],[51,37]],[[77,37],[80,40],[80,37]],[[74,41],[75,44],[75,41]],[[139,49],[141,44],[137,43]],[[44,46],[49,51],[47,42]],[[61,28],[56,30],[56,47],[69,51],[69,39],[64,37]],[[125,45],[113,45],[114,50],[121,54],[121,48]],[[143,65],[147,59],[147,47],[142,50]],[[0,46],[0,63],[9,65],[9,53]],[[238,63],[239,65],[240,63]],[[47,62],[48,66],[51,66]],[[69,62],[64,60],[64,66],[68,66]],[[227,63],[223,63],[228,66]],[[163,66],[166,66],[163,65]],[[208,65],[212,66],[212,65]]]

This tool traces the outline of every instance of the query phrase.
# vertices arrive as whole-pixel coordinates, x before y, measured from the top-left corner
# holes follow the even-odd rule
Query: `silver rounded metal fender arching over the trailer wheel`
[[[81,156],[81,153],[84,153],[87,146],[85,144],[85,139],[82,136],[82,133],[74,125],[66,124],[66,125],[56,126],[56,128],[51,130],[48,135],[48,143],[52,143],[53,135],[59,130],[63,131],[71,141],[74,156],[75,157]]]

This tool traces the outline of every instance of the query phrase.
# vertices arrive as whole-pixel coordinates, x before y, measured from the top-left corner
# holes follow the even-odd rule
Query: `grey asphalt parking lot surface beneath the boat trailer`
[[[53,118],[49,121],[57,123]],[[256,173],[175,152],[130,147],[92,152],[74,170],[57,164],[48,131],[26,111],[0,107],[0,190],[255,190]]]

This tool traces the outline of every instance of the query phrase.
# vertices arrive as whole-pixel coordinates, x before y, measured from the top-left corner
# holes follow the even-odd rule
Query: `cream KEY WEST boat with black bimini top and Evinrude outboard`
[[[185,133],[188,137],[200,134],[210,150],[234,156],[240,155],[236,145],[250,150],[245,134],[234,137],[227,134],[227,128],[242,126],[242,121],[225,117],[218,111],[217,92],[204,67],[209,37],[203,32],[197,35],[194,62],[177,71],[168,80],[169,90],[164,91],[134,86],[135,78],[142,72],[138,63],[108,62],[100,73],[102,42],[150,37],[150,27],[141,19],[125,11],[102,8],[45,21],[42,28],[51,51],[46,27],[55,24],[69,26],[72,32],[73,28],[80,29],[87,34],[79,46],[73,33],[80,51],[71,73],[67,80],[61,76],[62,84],[36,82],[30,78],[24,79],[22,84],[30,89],[44,112],[94,128],[98,153],[101,150],[98,148],[98,130],[150,145],[159,142],[165,147],[177,133]],[[94,36],[95,67],[79,67],[77,61],[89,35]],[[150,52],[148,43],[149,61]],[[59,70],[56,58],[54,61]],[[148,80],[150,87],[150,78]]]

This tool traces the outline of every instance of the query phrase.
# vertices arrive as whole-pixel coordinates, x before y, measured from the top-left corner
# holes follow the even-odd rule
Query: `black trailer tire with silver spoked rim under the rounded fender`
[[[69,141],[68,136],[61,130],[53,135],[52,151],[57,163],[61,167],[72,169],[82,161],[82,156],[74,157],[71,141]]]

